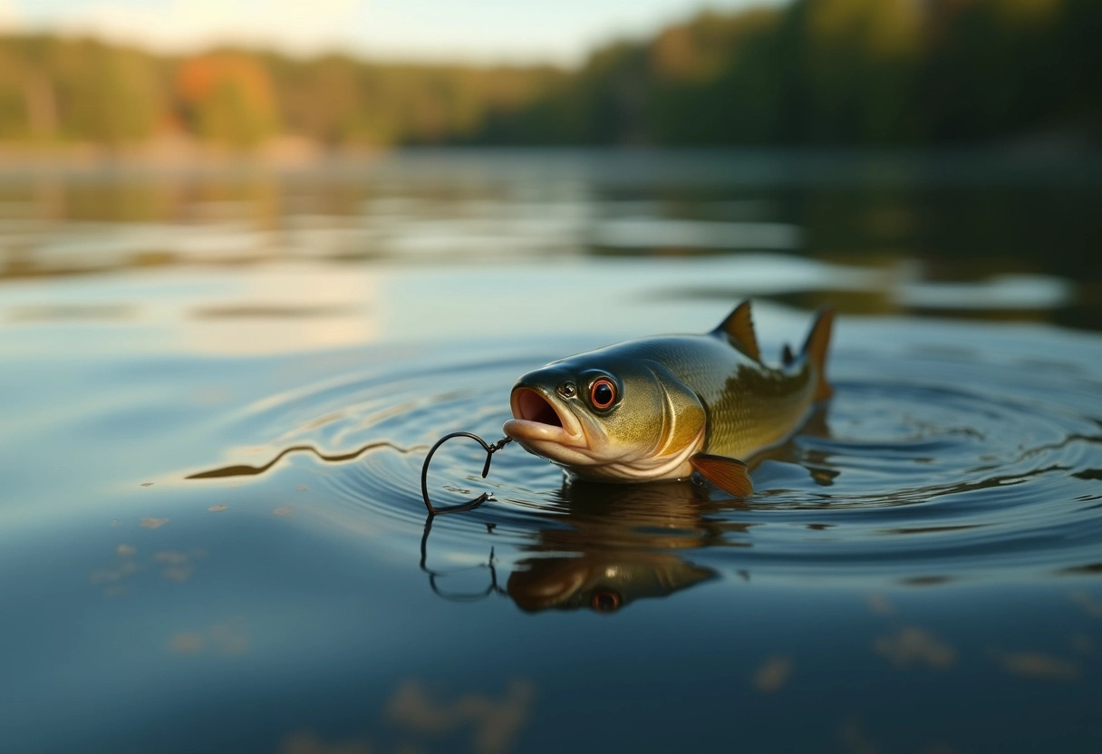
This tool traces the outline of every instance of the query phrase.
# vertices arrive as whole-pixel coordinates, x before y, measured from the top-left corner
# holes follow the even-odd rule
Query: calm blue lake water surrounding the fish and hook
[[[0,174],[0,751],[1102,751],[1102,162]],[[512,381],[840,317],[757,492],[564,484]],[[477,451],[477,452],[476,452]]]

